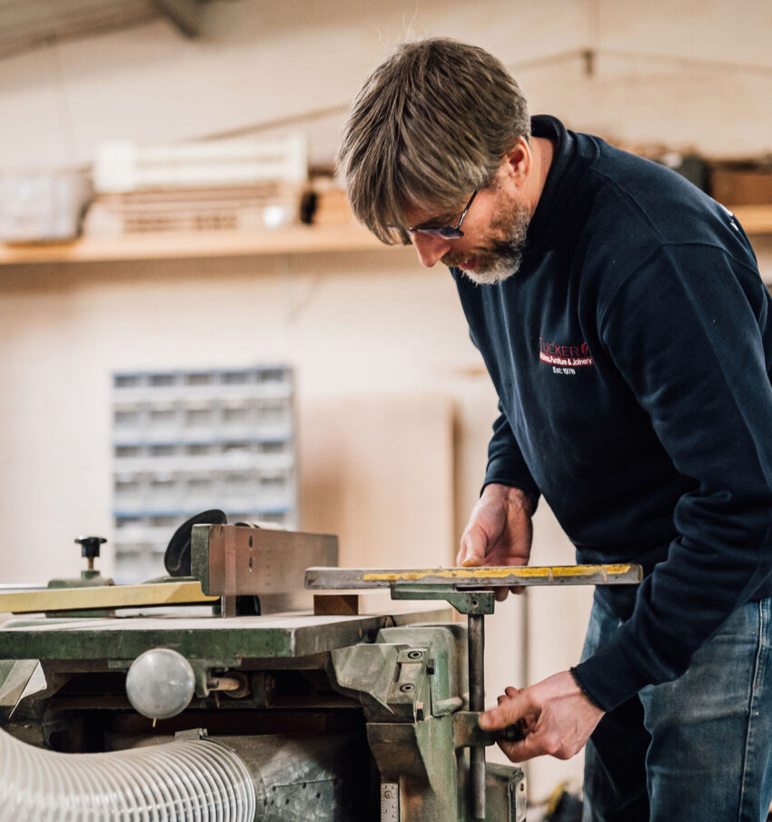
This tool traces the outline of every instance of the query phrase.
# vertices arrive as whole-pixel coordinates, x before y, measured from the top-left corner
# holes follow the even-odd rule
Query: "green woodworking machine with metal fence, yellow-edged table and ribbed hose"
[[[0,593],[0,822],[522,822],[477,724],[492,591],[640,574],[340,569],[334,537],[199,519],[120,586],[81,544],[83,584]]]

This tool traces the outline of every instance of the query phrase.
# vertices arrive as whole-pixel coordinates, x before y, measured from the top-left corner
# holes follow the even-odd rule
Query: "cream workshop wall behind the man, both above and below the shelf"
[[[297,128],[312,162],[329,165],[364,75],[391,45],[423,35],[489,48],[535,112],[574,128],[712,156],[768,154],[772,6],[741,5],[213,3],[197,41],[155,23],[0,61],[0,166],[82,166],[116,137]],[[772,281],[772,242],[756,246]],[[2,581],[72,575],[74,536],[110,534],[111,371],[256,361],[297,370],[303,526],[340,527],[351,563],[365,545],[383,564],[452,561],[495,397],[447,273],[422,271],[410,249],[6,267],[0,341]],[[543,505],[535,558],[573,559]],[[521,600],[500,609],[489,698],[575,662],[588,606],[588,590],[537,590],[528,619]],[[531,796],[579,775],[580,758],[540,760]]]

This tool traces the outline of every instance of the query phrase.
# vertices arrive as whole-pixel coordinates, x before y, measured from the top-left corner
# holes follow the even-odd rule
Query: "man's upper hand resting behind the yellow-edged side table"
[[[487,485],[461,537],[456,564],[527,565],[533,538],[532,513],[533,503],[520,489]],[[496,599],[506,596],[505,589],[497,590]]]

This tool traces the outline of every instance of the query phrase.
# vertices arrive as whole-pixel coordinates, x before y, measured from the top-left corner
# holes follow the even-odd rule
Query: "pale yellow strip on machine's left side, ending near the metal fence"
[[[200,582],[158,582],[149,585],[99,585],[93,588],[51,588],[0,594],[0,613],[30,614],[53,610],[140,608],[216,602]]]

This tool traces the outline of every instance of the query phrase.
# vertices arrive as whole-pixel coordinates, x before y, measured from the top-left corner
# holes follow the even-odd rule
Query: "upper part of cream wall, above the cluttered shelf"
[[[741,9],[741,11],[740,11]],[[716,156],[772,149],[766,0],[234,0],[199,40],[168,22],[50,45],[0,64],[5,167],[89,163],[142,144],[302,123],[329,162],[364,75],[406,37],[498,54],[534,112],[630,143]]]

